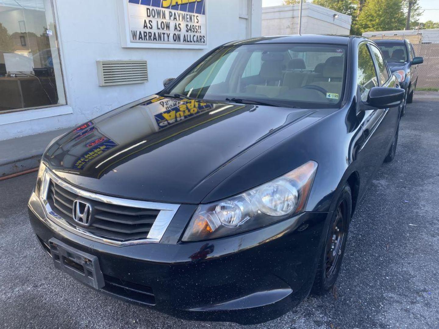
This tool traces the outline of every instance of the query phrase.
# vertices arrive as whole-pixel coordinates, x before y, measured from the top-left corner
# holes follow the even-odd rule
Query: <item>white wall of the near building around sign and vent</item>
[[[66,106],[0,114],[0,140],[71,127],[163,89],[212,48],[240,39],[238,0],[208,0],[207,49],[122,48],[117,1],[54,0]],[[262,0],[251,1],[251,36],[261,35]],[[98,86],[97,60],[147,60],[149,81]]]

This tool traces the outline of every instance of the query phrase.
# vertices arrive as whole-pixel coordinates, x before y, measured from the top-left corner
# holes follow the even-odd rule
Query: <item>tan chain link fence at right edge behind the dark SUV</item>
[[[416,87],[439,89],[439,43],[414,43],[416,56],[424,57],[417,68]]]

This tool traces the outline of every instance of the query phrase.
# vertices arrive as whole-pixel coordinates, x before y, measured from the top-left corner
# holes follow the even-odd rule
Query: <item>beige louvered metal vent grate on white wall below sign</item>
[[[146,61],[96,61],[99,86],[148,81]]]

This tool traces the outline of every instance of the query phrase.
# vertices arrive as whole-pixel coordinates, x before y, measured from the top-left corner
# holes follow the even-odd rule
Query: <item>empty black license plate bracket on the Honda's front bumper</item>
[[[105,285],[104,275],[96,256],[70,247],[55,238],[49,240],[49,248],[55,268],[95,289]]]

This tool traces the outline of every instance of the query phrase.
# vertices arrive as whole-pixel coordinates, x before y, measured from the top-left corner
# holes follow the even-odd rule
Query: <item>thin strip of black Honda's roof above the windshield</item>
[[[337,36],[320,34],[295,34],[288,36],[261,36],[258,38],[244,39],[226,43],[224,46],[238,46],[243,44],[262,44],[262,43],[331,43],[347,45],[349,39],[360,38],[355,36]],[[365,38],[362,38],[365,39]]]

